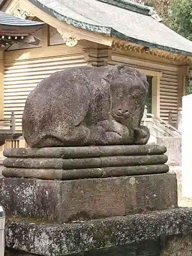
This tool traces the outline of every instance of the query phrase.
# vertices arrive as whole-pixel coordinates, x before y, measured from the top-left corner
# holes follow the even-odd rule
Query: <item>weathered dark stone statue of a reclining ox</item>
[[[146,76],[123,65],[56,72],[29,94],[23,135],[30,147],[146,144],[147,89]]]

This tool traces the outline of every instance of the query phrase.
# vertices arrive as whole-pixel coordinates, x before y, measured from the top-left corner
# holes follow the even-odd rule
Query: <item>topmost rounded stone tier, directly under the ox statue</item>
[[[162,155],[166,147],[162,145],[115,145],[115,146],[76,146],[42,148],[7,148],[5,157],[18,158],[95,158],[106,156],[146,156]]]

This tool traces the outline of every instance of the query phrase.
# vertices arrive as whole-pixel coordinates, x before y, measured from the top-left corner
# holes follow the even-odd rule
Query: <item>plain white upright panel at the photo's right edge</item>
[[[192,94],[182,98],[182,190],[192,198]]]

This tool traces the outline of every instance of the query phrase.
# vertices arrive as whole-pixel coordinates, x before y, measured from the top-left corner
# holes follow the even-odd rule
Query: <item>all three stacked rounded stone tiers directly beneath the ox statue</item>
[[[168,172],[159,145],[12,148],[4,151],[3,175],[73,180]]]

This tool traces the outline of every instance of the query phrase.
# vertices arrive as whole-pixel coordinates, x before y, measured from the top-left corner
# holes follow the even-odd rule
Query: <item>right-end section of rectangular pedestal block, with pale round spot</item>
[[[177,178],[172,174],[126,177],[126,214],[177,207]]]

